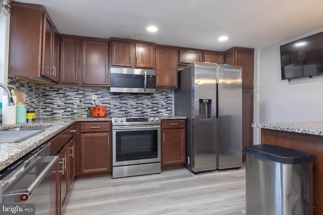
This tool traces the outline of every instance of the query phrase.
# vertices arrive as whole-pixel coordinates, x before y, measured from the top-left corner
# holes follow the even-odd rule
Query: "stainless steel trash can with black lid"
[[[246,215],[313,214],[312,153],[246,146]]]

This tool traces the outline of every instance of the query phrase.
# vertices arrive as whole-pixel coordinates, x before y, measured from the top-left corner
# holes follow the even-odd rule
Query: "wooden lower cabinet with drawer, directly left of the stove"
[[[111,122],[81,122],[79,172],[111,172]]]

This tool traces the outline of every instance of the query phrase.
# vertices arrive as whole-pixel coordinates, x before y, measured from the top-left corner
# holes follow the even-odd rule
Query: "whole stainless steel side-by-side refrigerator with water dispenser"
[[[179,71],[175,115],[187,116],[186,168],[242,166],[242,67],[195,62]]]

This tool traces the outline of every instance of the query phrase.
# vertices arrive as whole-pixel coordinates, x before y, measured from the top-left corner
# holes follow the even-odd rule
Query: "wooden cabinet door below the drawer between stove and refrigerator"
[[[162,131],[161,165],[186,163],[185,129],[169,129]]]

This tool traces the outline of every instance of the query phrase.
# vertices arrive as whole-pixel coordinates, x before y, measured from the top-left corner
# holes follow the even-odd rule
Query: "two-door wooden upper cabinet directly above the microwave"
[[[155,68],[155,44],[111,38],[111,65]]]

